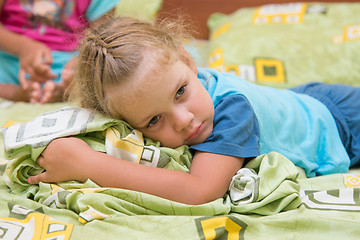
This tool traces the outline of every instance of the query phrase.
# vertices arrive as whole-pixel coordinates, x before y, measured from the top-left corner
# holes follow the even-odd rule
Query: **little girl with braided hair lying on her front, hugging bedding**
[[[189,145],[189,173],[133,164],[77,138],[54,140],[29,183],[91,179],[186,204],[222,197],[244,161],[277,151],[308,176],[359,162],[360,89],[308,84],[277,90],[198,69],[177,24],[117,18],[83,40],[73,94],[165,147]],[[85,170],[81,166],[88,166]]]

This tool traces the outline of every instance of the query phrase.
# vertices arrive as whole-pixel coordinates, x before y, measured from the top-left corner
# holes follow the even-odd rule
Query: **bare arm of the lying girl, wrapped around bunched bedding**
[[[203,204],[222,197],[243,159],[197,152],[190,172],[148,167],[91,149],[77,138],[54,140],[39,157],[46,172],[29,183],[91,179],[102,187],[149,193],[186,204]]]

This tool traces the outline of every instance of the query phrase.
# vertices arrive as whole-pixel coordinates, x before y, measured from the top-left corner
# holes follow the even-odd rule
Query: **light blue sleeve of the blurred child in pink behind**
[[[112,10],[121,0],[92,0],[86,10],[86,18],[93,22]]]

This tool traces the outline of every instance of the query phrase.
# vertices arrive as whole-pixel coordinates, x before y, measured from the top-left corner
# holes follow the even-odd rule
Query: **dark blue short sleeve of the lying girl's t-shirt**
[[[224,97],[215,106],[214,128],[209,138],[190,150],[235,157],[256,157],[260,130],[255,112],[243,95]]]

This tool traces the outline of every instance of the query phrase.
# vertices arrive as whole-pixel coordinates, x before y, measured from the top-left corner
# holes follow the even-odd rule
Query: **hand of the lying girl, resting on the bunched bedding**
[[[78,180],[85,182],[86,155],[92,153],[88,144],[75,138],[53,140],[37,159],[37,163],[46,171],[28,179],[30,184],[39,182],[64,182]],[[82,161],[84,160],[84,161]]]

